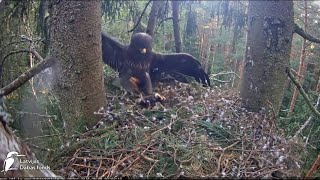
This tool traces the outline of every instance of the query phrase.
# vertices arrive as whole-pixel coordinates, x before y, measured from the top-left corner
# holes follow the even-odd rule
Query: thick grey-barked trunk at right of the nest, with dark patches
[[[246,60],[240,97],[243,107],[259,111],[271,103],[280,110],[289,67],[292,1],[249,1]]]

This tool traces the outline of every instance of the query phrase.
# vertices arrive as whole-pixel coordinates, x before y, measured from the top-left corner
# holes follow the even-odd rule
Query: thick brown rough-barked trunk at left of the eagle
[[[67,133],[96,124],[105,105],[100,1],[52,1],[50,6],[53,90]]]

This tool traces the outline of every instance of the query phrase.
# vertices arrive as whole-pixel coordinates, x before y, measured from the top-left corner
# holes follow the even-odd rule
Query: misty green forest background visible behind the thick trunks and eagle
[[[293,2],[294,23],[313,37],[320,37],[320,6],[313,1]],[[178,23],[175,24],[174,3],[171,1],[102,1],[99,3],[101,29],[127,44],[133,33],[150,28],[150,17],[155,15],[154,51],[189,53],[209,74],[213,88],[238,93],[246,62],[248,1],[176,3]],[[30,48],[36,49],[42,57],[52,54],[50,8],[48,1],[0,2],[0,88],[39,63],[39,59],[28,52]],[[20,52],[21,49],[24,51]],[[316,109],[320,99],[319,57],[318,43],[294,33],[290,68]],[[117,73],[107,65],[104,65],[103,73],[107,96],[115,95],[118,89],[111,80],[117,77]],[[52,70],[45,69],[5,96],[7,111],[14,119],[10,125],[40,154],[46,154],[42,147],[56,149],[66,143],[60,137],[65,128],[64,108],[52,92],[52,78]],[[319,117],[313,115],[306,99],[289,78],[281,99],[275,114],[277,126],[284,137],[298,138],[306,150],[302,157],[302,171],[306,173],[320,152]],[[85,122],[79,122],[75,131],[83,132],[85,128],[81,123]],[[52,138],[47,138],[43,144],[39,143],[42,140],[31,142],[34,137],[46,135]]]

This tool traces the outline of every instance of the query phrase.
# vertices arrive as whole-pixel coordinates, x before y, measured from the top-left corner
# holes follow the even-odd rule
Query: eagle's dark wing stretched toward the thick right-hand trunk
[[[150,66],[151,80],[156,81],[161,73],[181,74],[193,77],[199,83],[210,86],[210,79],[201,64],[187,53],[154,53]],[[178,81],[184,81],[177,79]]]

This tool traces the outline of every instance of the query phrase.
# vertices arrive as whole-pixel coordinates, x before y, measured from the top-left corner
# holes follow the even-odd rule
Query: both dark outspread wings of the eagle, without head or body
[[[105,64],[108,64],[115,71],[121,72],[127,64],[128,46],[123,45],[116,39],[102,33],[102,58]],[[208,75],[204,72],[201,64],[190,54],[171,53],[160,54],[153,52],[150,64],[150,77],[154,83],[159,80],[161,73],[176,73],[194,77],[196,81],[210,86]],[[185,82],[182,79],[177,79]]]

